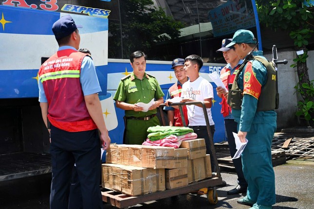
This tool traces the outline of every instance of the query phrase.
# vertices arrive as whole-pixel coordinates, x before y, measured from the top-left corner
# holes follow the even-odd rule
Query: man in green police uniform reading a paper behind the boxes
[[[133,72],[122,78],[113,97],[116,106],[125,110],[126,144],[142,144],[148,136],[150,126],[160,125],[156,116],[157,107],[164,103],[164,93],[155,77],[148,75],[146,70],[146,54],[141,51],[131,53],[130,61]],[[144,112],[137,103],[154,103]]]

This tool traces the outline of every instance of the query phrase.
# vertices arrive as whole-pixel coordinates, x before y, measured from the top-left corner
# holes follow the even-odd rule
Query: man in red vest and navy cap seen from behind
[[[74,163],[83,208],[102,209],[100,140],[104,149],[111,140],[98,98],[101,88],[92,58],[77,51],[80,44],[77,28],[81,26],[70,15],[53,24],[59,49],[38,72],[41,113],[51,138],[51,209],[68,208]]]

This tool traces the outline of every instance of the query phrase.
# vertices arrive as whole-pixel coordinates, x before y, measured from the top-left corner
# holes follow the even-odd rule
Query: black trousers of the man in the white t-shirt
[[[198,139],[205,139],[206,154],[210,155],[211,171],[216,172],[216,166],[214,163],[214,156],[213,156],[213,153],[210,149],[210,141],[209,141],[209,135],[207,132],[207,126],[206,125],[197,125],[197,126],[188,126],[188,127],[193,129],[194,133],[197,134]],[[215,125],[210,126],[210,132],[212,135],[212,140],[214,140]]]

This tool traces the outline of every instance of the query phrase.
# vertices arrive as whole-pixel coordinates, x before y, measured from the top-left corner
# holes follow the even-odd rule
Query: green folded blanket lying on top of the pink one
[[[167,136],[175,135],[182,136],[188,133],[193,133],[192,128],[184,127],[184,126],[151,126],[147,129],[148,139],[151,141],[164,139]]]

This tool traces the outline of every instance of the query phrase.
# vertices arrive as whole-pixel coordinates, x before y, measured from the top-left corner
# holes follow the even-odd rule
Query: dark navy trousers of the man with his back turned
[[[75,163],[83,208],[102,209],[98,130],[67,132],[52,126],[50,154],[52,157],[50,208],[68,209],[70,179]]]

